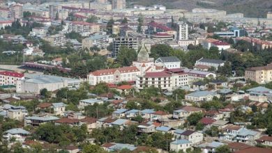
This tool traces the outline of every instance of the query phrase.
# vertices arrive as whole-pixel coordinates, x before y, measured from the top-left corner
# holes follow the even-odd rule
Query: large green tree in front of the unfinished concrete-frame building
[[[117,55],[117,63],[122,66],[130,66],[137,59],[137,53],[134,49],[126,46],[121,46]]]

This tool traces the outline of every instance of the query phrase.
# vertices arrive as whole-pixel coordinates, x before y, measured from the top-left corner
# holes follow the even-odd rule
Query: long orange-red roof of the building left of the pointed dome
[[[114,74],[114,72],[119,71],[121,73],[127,73],[127,72],[139,72],[137,67],[120,67],[115,69],[104,69],[104,70],[97,70],[95,72],[90,72],[89,74],[93,74],[94,76],[103,76],[103,75],[109,75]]]

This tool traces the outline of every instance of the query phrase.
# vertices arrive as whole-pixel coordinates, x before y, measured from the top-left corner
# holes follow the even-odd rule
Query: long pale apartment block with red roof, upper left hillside
[[[98,24],[91,24],[88,22],[68,22],[68,31],[75,31],[76,33],[98,33],[100,26]]]

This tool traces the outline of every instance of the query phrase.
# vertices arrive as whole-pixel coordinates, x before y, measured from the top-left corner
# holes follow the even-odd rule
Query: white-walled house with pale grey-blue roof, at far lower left
[[[15,138],[16,141],[24,142],[24,139],[29,135],[29,131],[26,131],[21,128],[9,129],[8,131],[3,132],[3,139],[11,140]]]

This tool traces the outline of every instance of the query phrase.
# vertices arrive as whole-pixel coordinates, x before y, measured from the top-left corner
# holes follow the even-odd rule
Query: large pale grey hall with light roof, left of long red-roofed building
[[[16,92],[39,94],[43,88],[46,88],[48,91],[54,91],[66,87],[79,88],[80,80],[51,75],[31,74],[17,81]]]

